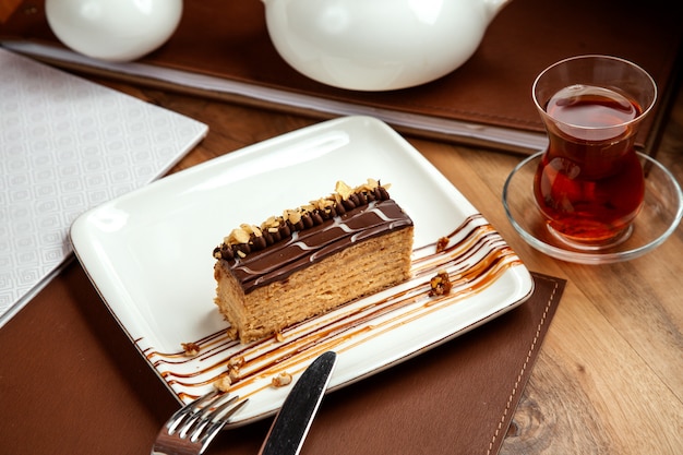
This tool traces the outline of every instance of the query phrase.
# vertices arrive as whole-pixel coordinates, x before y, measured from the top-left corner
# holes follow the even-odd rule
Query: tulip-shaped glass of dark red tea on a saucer
[[[634,142],[657,98],[655,82],[626,60],[582,56],[546,69],[532,95],[549,139],[534,178],[548,229],[583,250],[626,240],[643,205]]]

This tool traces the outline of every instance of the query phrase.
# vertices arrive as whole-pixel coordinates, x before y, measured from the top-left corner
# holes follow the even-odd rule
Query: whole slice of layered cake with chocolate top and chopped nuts
[[[408,279],[412,220],[387,188],[337,182],[327,197],[232,230],[214,250],[214,277],[233,336],[278,335]]]

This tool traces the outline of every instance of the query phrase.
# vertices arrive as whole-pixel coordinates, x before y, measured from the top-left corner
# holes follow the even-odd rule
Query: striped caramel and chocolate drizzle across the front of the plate
[[[230,385],[241,397],[272,387],[271,379],[286,371],[296,374],[307,360],[325,350],[348,350],[366,340],[412,323],[435,311],[481,292],[520,260],[479,214],[468,217],[448,236],[448,246],[436,252],[436,242],[414,250],[412,278],[387,291],[346,303],[317,318],[249,345],[220,331],[192,342],[197,356],[143,349],[147,360],[183,402],[207,392],[229,364],[239,363],[239,376]],[[430,278],[446,271],[453,288],[448,295],[429,297]],[[142,339],[136,340],[142,348]],[[181,372],[176,366],[193,367]],[[175,368],[176,367],[176,368]]]

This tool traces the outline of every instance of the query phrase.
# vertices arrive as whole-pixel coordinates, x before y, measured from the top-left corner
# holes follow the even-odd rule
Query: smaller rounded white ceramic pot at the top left
[[[46,0],[45,13],[55,35],[76,52],[129,61],[166,43],[182,0]]]

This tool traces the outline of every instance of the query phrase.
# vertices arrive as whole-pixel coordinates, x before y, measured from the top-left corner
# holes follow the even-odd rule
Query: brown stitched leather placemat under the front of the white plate
[[[517,309],[323,400],[303,454],[495,454],[565,282],[534,274]],[[11,454],[146,454],[178,407],[75,261],[0,330],[0,439]],[[212,454],[257,452],[271,420]]]

